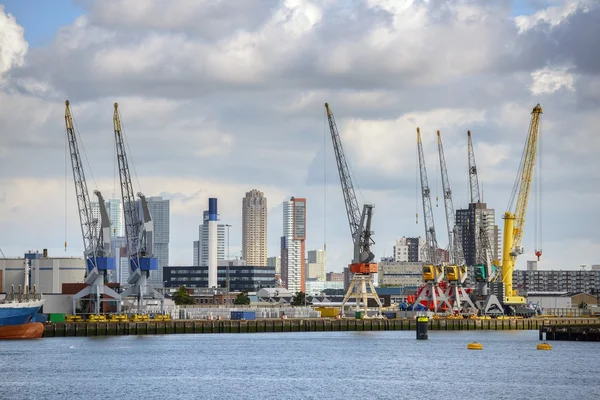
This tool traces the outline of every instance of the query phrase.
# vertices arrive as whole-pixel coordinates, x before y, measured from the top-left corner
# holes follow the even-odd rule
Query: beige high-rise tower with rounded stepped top
[[[256,189],[242,199],[242,258],[248,265],[267,265],[267,198]]]

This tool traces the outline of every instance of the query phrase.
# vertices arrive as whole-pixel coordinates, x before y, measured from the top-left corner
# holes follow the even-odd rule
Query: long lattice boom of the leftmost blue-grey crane
[[[98,237],[98,221],[94,220],[92,216],[92,203],[90,201],[83,164],[79,154],[77,135],[75,134],[69,100],[65,101],[65,125],[67,128],[67,138],[71,153],[71,166],[73,167],[73,180],[75,182],[75,195],[77,196],[81,236],[83,237],[83,251],[85,258],[88,258],[96,252],[96,246],[98,244],[96,241],[96,238]],[[89,265],[88,269],[90,269]]]

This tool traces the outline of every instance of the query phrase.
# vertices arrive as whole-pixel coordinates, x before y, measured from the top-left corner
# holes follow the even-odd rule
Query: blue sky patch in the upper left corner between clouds
[[[32,47],[49,43],[61,26],[70,25],[84,13],[72,0],[4,0],[0,4],[23,26]]]

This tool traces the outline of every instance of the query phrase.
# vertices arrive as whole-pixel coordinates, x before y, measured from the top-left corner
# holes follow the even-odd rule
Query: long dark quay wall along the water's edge
[[[429,330],[540,330],[544,324],[580,325],[598,323],[598,319],[567,318],[516,320],[443,320],[433,319]],[[260,333],[260,332],[344,332],[344,331],[411,331],[414,319],[259,319],[177,320],[147,322],[56,322],[47,323],[44,337],[164,335],[182,333]]]

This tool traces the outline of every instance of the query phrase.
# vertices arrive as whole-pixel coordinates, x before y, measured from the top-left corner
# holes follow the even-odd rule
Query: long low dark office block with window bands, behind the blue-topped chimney
[[[229,263],[229,289],[232,292],[255,292],[261,288],[275,287],[275,268],[249,266],[243,260],[221,261],[217,267],[217,287],[227,287]],[[207,288],[208,266],[168,266],[165,268],[165,287]]]

